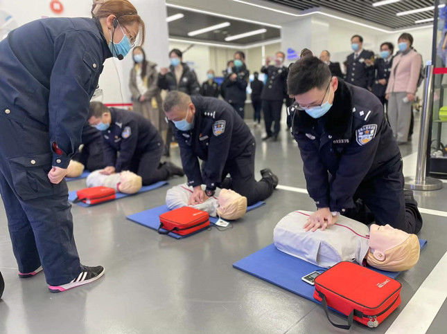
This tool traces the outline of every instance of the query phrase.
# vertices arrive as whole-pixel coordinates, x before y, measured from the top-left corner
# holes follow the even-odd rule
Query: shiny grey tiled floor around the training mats
[[[261,131],[254,131],[259,139]],[[282,185],[305,187],[295,142],[258,140],[256,170],[271,167]],[[414,151],[408,145],[407,154]],[[178,162],[174,150],[173,161]],[[170,180],[170,185],[182,179]],[[71,190],[83,181],[69,183]],[[322,309],[231,267],[272,242],[274,225],[297,209],[312,210],[306,194],[277,190],[267,205],[219,232],[215,228],[175,240],[127,221],[125,216],[164,203],[166,187],[98,207],[73,206],[75,236],[83,263],[101,264],[98,283],[51,294],[43,275],[17,279],[6,217],[0,205],[0,270],[6,280],[0,301],[0,333],[333,333]],[[423,207],[444,210],[446,190],[419,193]],[[421,238],[428,247],[415,268],[399,277],[403,302],[375,333],[384,333],[447,250],[446,218],[423,214]],[[442,288],[442,287],[439,287]],[[446,305],[430,333],[446,328]],[[417,315],[415,315],[416,317]],[[358,324],[351,330],[366,333]],[[445,332],[444,332],[445,333]]]

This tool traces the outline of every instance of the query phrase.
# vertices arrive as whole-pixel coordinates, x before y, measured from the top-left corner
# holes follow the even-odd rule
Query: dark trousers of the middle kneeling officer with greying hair
[[[226,189],[232,189],[238,194],[247,197],[247,205],[253,205],[270,197],[274,187],[266,180],[256,181],[254,178],[254,154],[256,144],[253,140],[243,154],[227,161],[225,164],[220,185]],[[227,175],[230,178],[227,178]]]

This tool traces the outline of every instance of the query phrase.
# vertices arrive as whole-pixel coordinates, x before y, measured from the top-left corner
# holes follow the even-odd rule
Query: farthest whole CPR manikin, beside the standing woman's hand
[[[101,174],[102,169],[92,172],[87,177],[87,187],[109,187],[115,189],[115,192],[123,194],[135,194],[143,186],[141,176],[132,173],[132,171],[121,171],[110,175]]]

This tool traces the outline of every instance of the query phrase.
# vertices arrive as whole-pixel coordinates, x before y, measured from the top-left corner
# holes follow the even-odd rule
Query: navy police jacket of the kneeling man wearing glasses
[[[401,160],[383,105],[366,89],[339,80],[333,106],[322,118],[311,118],[296,106],[291,107],[292,133],[317,207],[333,212],[354,207],[358,187],[383,177]]]

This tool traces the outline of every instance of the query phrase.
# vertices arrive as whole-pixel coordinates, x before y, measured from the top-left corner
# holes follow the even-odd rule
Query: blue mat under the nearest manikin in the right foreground
[[[427,241],[423,239],[419,239],[419,243],[421,250],[427,245]],[[316,303],[318,301],[313,298],[315,287],[302,281],[301,277],[315,270],[326,270],[281,252],[273,243],[235,262],[233,267]],[[393,279],[401,273],[369,268]]]

